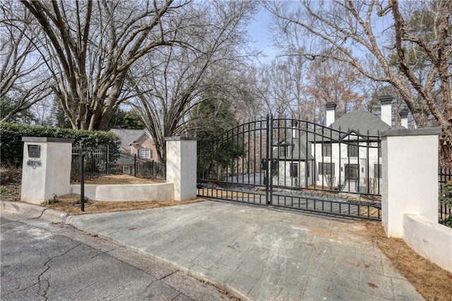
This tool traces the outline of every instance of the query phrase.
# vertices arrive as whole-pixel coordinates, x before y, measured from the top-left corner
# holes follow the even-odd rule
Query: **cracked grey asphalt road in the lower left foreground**
[[[4,217],[0,223],[1,300],[230,297],[213,285],[68,225]]]

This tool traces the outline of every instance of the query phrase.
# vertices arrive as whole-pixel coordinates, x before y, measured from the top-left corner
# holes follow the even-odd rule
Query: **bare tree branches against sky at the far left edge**
[[[20,18],[13,19],[13,11]],[[30,33],[30,13],[15,1],[4,1],[0,10],[0,122],[28,110],[50,93],[49,78],[42,71],[44,62],[35,57],[35,40]]]

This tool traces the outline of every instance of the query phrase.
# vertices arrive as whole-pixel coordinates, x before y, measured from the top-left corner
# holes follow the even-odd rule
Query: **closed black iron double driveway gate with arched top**
[[[380,182],[379,133],[268,116],[198,141],[198,196],[380,220]]]

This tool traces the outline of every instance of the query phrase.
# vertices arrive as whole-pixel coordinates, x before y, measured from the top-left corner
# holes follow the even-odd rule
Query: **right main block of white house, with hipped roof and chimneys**
[[[316,185],[341,191],[378,194],[381,179],[379,133],[392,126],[392,97],[381,98],[381,119],[371,112],[353,111],[335,119],[335,103],[326,105],[330,131],[311,134],[311,153],[316,162]],[[400,112],[408,126],[408,111]]]

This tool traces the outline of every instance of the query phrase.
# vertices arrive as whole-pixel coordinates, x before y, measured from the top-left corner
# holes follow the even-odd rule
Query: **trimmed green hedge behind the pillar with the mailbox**
[[[119,137],[107,131],[81,131],[2,122],[0,124],[1,162],[9,162],[13,165],[22,164],[23,136],[71,138],[74,140],[73,146],[100,146],[108,144],[114,148],[119,148],[121,145]]]

